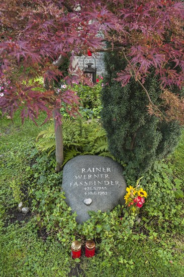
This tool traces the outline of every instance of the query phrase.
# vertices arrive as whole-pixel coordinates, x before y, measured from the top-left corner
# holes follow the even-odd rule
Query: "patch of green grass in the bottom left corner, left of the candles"
[[[0,276],[67,276],[71,257],[57,242],[44,242],[29,226],[15,224],[0,237]]]

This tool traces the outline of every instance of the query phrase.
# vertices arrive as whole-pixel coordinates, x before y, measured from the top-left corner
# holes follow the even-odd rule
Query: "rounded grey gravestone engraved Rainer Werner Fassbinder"
[[[62,189],[77,214],[76,222],[88,220],[88,211],[108,212],[125,203],[127,186],[122,172],[120,164],[101,156],[77,156],[65,164]]]

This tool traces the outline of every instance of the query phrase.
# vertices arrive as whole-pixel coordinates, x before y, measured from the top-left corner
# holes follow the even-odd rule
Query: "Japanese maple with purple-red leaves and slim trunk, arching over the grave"
[[[84,77],[71,67],[74,55],[97,51],[118,51],[126,60],[126,67],[118,75],[122,85],[132,77],[145,92],[148,111],[162,119],[178,119],[183,113],[183,101],[169,91],[170,86],[183,85],[183,5],[179,1],[120,1],[103,0],[6,0],[0,8],[1,76],[11,80],[0,97],[3,112],[12,116],[21,109],[22,118],[37,118],[39,111],[54,113],[56,130],[57,170],[63,163],[60,108],[71,106],[77,111],[78,98],[72,84]],[[103,36],[99,37],[101,32]],[[110,46],[105,47],[105,41]],[[70,59],[68,75],[62,64]],[[159,76],[163,90],[165,114],[157,107],[144,87],[150,70]],[[75,72],[75,74],[73,74]],[[43,76],[45,90],[30,79]],[[58,76],[70,89],[57,90]],[[171,100],[170,100],[171,99]],[[177,108],[174,109],[174,101]],[[179,116],[182,121],[182,116]]]

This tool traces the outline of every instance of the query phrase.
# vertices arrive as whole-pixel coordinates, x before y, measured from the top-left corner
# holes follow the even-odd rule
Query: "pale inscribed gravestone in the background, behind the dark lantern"
[[[96,60],[97,76],[104,74],[105,73],[104,53],[99,52],[99,53],[96,53],[93,56],[95,57],[95,60]],[[73,67],[77,66],[77,67],[80,68],[80,70],[83,70],[83,59],[84,59],[84,57],[85,56],[83,56],[83,55],[82,56],[74,56],[74,59],[72,61],[72,66]],[[94,63],[92,66],[95,67],[95,61],[90,56],[86,56],[85,62],[84,62],[84,67],[86,67],[86,63],[88,63],[88,62]]]

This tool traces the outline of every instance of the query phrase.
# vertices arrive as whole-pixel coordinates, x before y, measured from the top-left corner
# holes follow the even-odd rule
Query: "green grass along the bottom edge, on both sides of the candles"
[[[71,259],[70,246],[39,239],[31,224],[14,225],[0,237],[0,276],[70,276],[77,266]],[[98,250],[98,247],[97,247]],[[129,240],[78,264],[77,276],[183,276],[183,242],[144,239]],[[77,272],[77,271],[76,271]]]

